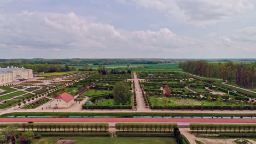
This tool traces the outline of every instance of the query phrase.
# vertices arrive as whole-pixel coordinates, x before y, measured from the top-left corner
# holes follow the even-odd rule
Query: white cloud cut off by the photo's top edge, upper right
[[[118,0],[120,1],[120,0]],[[125,0],[122,0],[124,3]],[[138,7],[157,9],[197,26],[216,23],[254,8],[253,0],[126,0]]]

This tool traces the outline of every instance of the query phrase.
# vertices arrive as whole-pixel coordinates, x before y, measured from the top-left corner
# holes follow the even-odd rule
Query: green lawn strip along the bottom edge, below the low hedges
[[[76,140],[75,144],[176,144],[172,137],[42,137],[39,140],[33,140],[32,144],[55,144],[60,138]]]

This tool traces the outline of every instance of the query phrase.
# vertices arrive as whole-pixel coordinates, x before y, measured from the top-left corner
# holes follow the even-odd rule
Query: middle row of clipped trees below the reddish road
[[[171,132],[177,123],[117,123],[115,129],[118,131],[159,131]]]

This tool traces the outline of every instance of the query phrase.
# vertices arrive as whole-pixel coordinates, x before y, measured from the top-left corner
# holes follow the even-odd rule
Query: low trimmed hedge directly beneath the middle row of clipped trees
[[[173,134],[170,133],[123,133],[117,131],[117,136],[125,136],[125,137],[173,137]]]

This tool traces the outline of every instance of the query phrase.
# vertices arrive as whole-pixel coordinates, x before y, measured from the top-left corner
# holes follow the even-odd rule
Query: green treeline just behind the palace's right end
[[[74,67],[68,67],[67,65],[53,65],[53,64],[23,64],[20,67],[26,69],[32,69],[33,73],[49,73],[57,71],[74,71]]]

